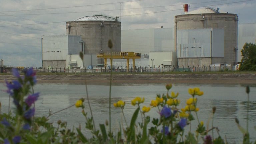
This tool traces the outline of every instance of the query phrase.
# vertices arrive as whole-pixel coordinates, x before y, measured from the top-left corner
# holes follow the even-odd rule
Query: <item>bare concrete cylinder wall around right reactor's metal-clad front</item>
[[[204,15],[204,18],[203,18]],[[175,48],[177,48],[177,31],[189,29],[216,28],[224,29],[224,59],[219,63],[237,63],[237,15],[236,14],[186,14],[175,16]],[[179,65],[185,65],[184,60],[178,59]],[[210,62],[208,60],[208,62]],[[198,65],[194,61],[194,65]],[[211,64],[211,63],[209,63]],[[208,63],[207,63],[208,65]]]

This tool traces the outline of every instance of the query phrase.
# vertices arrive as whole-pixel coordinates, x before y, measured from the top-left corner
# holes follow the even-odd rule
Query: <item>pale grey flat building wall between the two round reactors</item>
[[[174,51],[174,28],[122,30],[122,51]]]

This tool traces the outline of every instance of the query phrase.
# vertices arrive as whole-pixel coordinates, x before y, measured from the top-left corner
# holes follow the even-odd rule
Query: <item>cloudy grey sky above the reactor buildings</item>
[[[41,36],[66,34],[65,22],[104,14],[119,17],[122,30],[172,28],[174,16],[212,7],[256,23],[256,0],[1,0],[0,59],[6,66],[41,66]]]

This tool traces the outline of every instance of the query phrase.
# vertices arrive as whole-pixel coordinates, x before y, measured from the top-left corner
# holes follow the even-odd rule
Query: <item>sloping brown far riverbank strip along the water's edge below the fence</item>
[[[0,75],[0,81],[14,80],[13,75]],[[38,81],[106,81],[109,74],[86,75],[37,75]],[[256,82],[255,73],[229,73],[229,74],[114,74],[114,81],[252,81]]]

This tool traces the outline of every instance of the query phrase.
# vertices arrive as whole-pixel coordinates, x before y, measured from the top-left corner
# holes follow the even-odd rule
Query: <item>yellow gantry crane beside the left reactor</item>
[[[135,52],[104,52],[97,55],[97,58],[104,58],[104,67],[107,67],[107,59],[110,59],[110,65],[112,65],[113,59],[127,59],[127,72],[129,70],[129,61],[132,59],[133,71],[135,70],[135,59],[139,59],[141,53]]]

